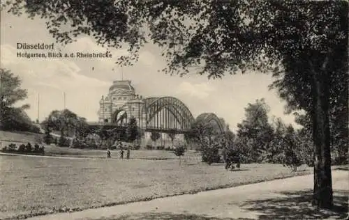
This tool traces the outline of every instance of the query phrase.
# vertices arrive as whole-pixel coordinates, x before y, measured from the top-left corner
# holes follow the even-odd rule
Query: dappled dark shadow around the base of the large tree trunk
[[[313,191],[281,193],[282,198],[248,201],[244,210],[260,213],[259,219],[346,219],[349,191],[334,191],[332,210],[320,210],[311,205]]]

